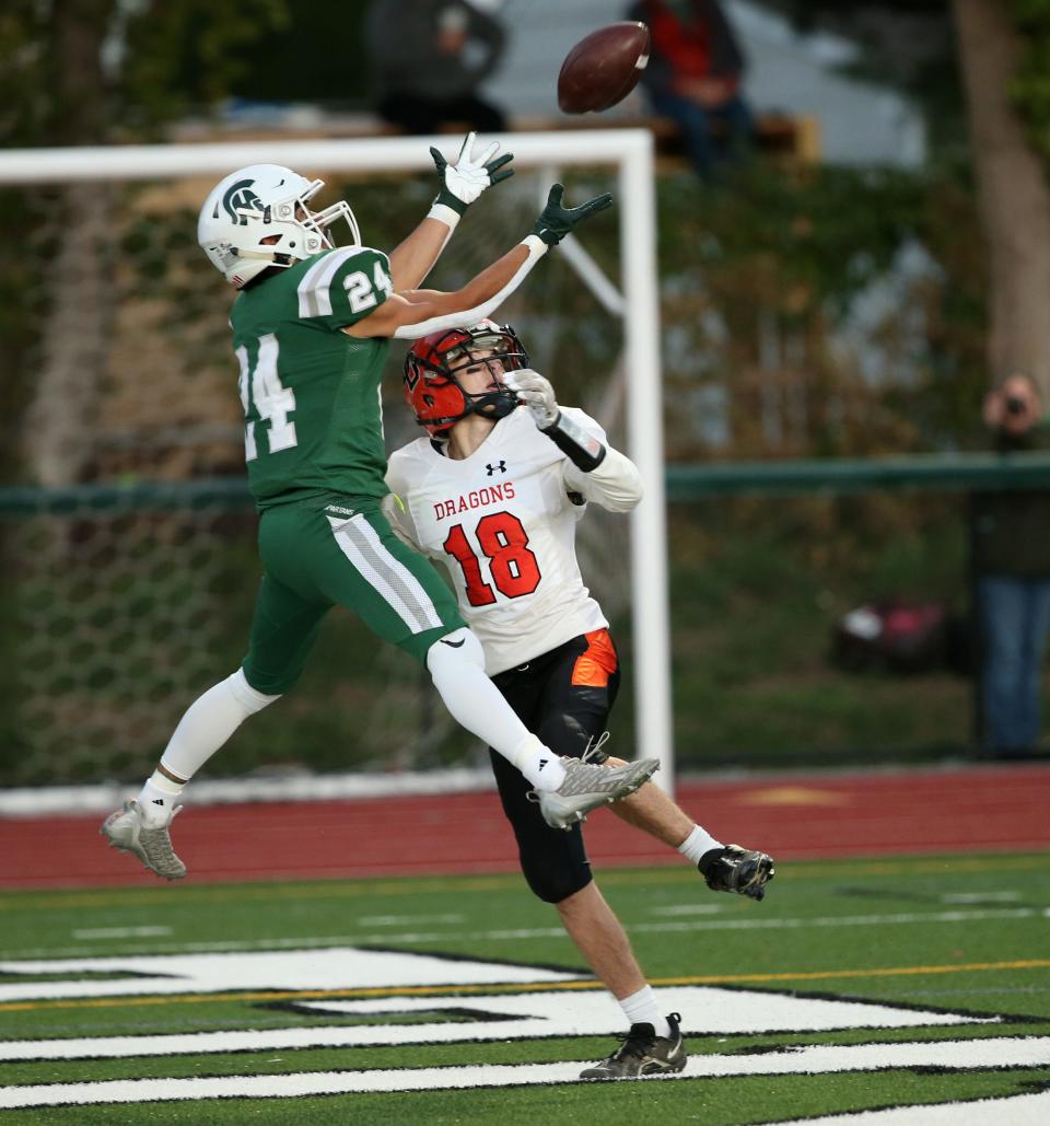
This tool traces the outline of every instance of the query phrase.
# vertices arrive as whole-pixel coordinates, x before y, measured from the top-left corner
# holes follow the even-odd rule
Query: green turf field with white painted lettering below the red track
[[[619,1009],[518,877],[189,883],[0,895],[0,1116],[1050,1120],[1045,855],[782,864],[761,904],[685,865],[601,884],[682,1012],[680,1079],[571,1081]]]

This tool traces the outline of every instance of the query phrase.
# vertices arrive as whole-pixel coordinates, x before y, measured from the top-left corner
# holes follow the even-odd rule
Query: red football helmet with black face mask
[[[476,355],[481,351],[490,355]],[[457,372],[491,360],[500,360],[504,372],[529,366],[529,357],[509,324],[481,321],[469,329],[446,329],[415,341],[405,356],[405,402],[431,437],[441,437],[468,414],[502,419],[518,405],[502,384],[479,395],[459,385]]]

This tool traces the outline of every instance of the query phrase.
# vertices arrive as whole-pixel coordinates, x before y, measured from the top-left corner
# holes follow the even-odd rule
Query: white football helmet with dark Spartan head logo
[[[307,180],[280,164],[240,168],[219,180],[205,199],[197,241],[237,289],[271,266],[290,266],[331,250],[334,242],[327,227],[336,220],[349,224],[350,245],[360,245],[357,220],[344,200],[320,212],[306,206],[323,187],[324,180]]]

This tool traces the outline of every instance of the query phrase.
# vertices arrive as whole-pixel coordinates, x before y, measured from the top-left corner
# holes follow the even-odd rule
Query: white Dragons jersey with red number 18
[[[592,418],[560,409],[608,445]],[[430,438],[410,443],[392,455],[386,482],[401,503],[387,497],[384,512],[448,570],[490,676],[608,625],[580,574],[576,522],[585,500],[613,511],[637,504],[638,471],[622,454],[607,448],[584,473],[519,408],[463,461]]]

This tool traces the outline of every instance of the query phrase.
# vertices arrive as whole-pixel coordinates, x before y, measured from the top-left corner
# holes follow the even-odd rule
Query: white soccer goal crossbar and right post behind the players
[[[653,137],[647,129],[581,129],[501,136],[521,168],[613,166],[619,176],[628,453],[645,481],[631,518],[631,601],[636,750],[658,758],[662,787],[673,788],[671,659],[663,457],[663,395],[656,276]],[[248,141],[212,144],[26,149],[0,153],[0,185],[143,180],[226,172],[279,163],[330,172],[432,170],[430,144],[452,138]],[[514,232],[508,232],[512,236]],[[535,285],[527,282],[526,285]]]

